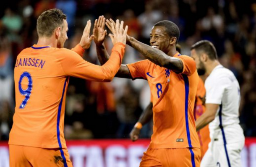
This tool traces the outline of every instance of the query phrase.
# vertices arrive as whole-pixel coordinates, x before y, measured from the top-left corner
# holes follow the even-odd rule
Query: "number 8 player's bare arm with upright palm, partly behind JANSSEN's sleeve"
[[[104,39],[107,36],[107,30],[104,30],[106,18],[104,16],[99,16],[99,19],[96,19],[94,22],[93,35],[94,42],[96,44],[97,56],[99,59],[99,63],[104,65],[107,60],[110,59],[109,54],[104,46]],[[130,70],[126,65],[121,65],[116,77],[120,78],[132,78]]]

